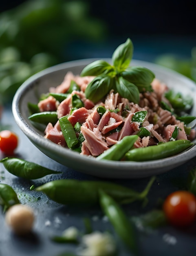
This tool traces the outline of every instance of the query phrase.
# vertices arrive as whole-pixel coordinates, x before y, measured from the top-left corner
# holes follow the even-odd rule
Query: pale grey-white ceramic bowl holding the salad
[[[16,92],[12,104],[13,116],[22,132],[39,150],[56,162],[76,171],[105,178],[141,178],[158,175],[180,166],[196,156],[196,146],[193,146],[181,154],[160,160],[148,162],[98,162],[92,157],[79,155],[79,153],[45,139],[43,137],[44,133],[33,127],[29,121],[27,103],[37,103],[42,93],[47,93],[50,87],[55,87],[63,81],[67,71],[72,71],[73,74],[80,74],[81,70],[92,61],[95,61],[95,59],[70,61],[50,67],[31,76]],[[111,62],[110,59],[106,59],[106,61]],[[196,95],[196,84],[181,74],[144,61],[132,60],[131,65],[149,68],[155,73],[156,78],[165,82],[169,88],[173,88],[176,92],[181,92],[183,95]],[[196,115],[196,97],[194,97],[194,108],[191,114]]]

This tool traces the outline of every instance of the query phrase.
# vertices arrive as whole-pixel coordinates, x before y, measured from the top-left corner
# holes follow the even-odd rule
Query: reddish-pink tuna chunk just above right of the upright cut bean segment
[[[68,120],[72,124],[72,126],[75,126],[77,122],[79,124],[83,124],[87,117],[89,116],[89,112],[86,108],[78,108],[72,112],[72,114],[68,117]]]

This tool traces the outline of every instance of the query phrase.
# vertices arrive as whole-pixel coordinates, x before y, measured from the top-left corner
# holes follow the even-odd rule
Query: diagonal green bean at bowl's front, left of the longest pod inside
[[[125,153],[132,148],[134,142],[137,141],[137,135],[125,136],[123,139],[119,140],[116,144],[111,146],[108,150],[104,151],[101,155],[99,155],[97,160],[120,160],[123,158]]]

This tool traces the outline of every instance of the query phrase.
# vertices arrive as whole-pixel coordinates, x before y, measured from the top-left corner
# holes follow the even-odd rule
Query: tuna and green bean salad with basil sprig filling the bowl
[[[193,145],[193,100],[170,90],[148,68],[132,66],[130,38],[115,49],[112,64],[97,60],[29,103],[33,124],[45,138],[97,160],[148,161]]]

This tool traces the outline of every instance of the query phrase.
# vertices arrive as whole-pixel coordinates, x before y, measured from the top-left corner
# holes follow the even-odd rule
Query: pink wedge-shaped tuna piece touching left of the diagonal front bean
[[[98,156],[108,149],[108,146],[103,138],[96,136],[95,132],[92,132],[88,128],[81,126],[81,133],[85,138],[85,144],[90,154]]]

